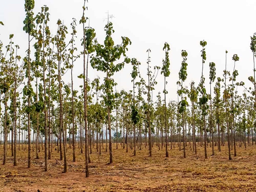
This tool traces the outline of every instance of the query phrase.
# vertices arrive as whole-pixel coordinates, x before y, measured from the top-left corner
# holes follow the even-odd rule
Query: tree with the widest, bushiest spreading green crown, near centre
[[[103,91],[105,92],[104,102],[107,106],[108,112],[108,132],[109,132],[109,163],[113,163],[112,155],[112,140],[111,140],[111,121],[110,114],[114,108],[114,93],[113,86],[115,85],[114,79],[111,78],[116,72],[124,68],[124,63],[129,63],[131,60],[126,57],[127,46],[131,44],[128,37],[122,37],[122,44],[115,45],[112,33],[114,29],[111,22],[105,26],[106,38],[104,45],[97,43],[95,45],[96,56],[92,56],[91,65],[92,68],[96,68],[98,71],[103,71],[106,73],[104,78]],[[115,64],[116,61],[120,59],[121,56],[125,59],[121,63]]]

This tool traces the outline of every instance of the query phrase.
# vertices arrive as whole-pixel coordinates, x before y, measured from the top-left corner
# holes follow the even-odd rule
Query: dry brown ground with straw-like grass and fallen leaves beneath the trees
[[[215,156],[211,156],[212,148],[207,148],[208,159],[204,159],[204,146],[197,146],[197,154],[189,147],[187,158],[183,151],[169,149],[169,157],[165,157],[165,149],[158,150],[154,146],[152,157],[143,146],[133,150],[123,149],[113,144],[113,161],[108,164],[109,153],[101,155],[93,148],[89,164],[90,177],[85,178],[84,154],[76,148],[76,162],[72,162],[72,147],[68,145],[68,172],[62,173],[63,161],[54,150],[52,159],[48,160],[49,171],[44,172],[44,152],[40,159],[35,159],[32,152],[32,167],[27,168],[28,151],[17,150],[18,166],[13,166],[11,150],[8,146],[7,164],[0,165],[0,191],[4,192],[60,192],[60,191],[256,191],[256,145],[239,148],[237,157],[228,160],[228,147],[215,147]],[[0,163],[3,159],[3,148],[0,148]]]

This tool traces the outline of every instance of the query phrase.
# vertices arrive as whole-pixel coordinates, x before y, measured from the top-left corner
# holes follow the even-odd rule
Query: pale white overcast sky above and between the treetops
[[[72,18],[77,23],[82,16],[83,0],[35,0],[34,13],[40,12],[40,7],[47,5],[50,12],[49,27],[51,34],[57,30],[57,20],[63,20],[70,30]],[[89,0],[86,4],[88,11],[86,16],[90,18],[90,26],[95,28],[98,41],[103,44],[105,38],[104,26],[107,23],[107,12],[114,17],[111,19],[115,33],[113,38],[116,44],[121,43],[121,36],[131,39],[127,56],[137,58],[141,62],[141,73],[146,76],[147,49],[151,49],[151,65],[162,66],[164,58],[164,42],[170,44],[170,70],[171,75],[167,78],[167,100],[176,100],[179,70],[181,67],[181,50],[188,52],[188,78],[185,85],[189,86],[193,80],[196,86],[201,76],[201,40],[207,41],[206,62],[204,66],[205,83],[209,84],[209,62],[216,64],[216,76],[222,77],[225,69],[225,50],[228,51],[228,70],[233,70],[233,54],[238,54],[240,60],[236,63],[239,76],[237,81],[244,81],[245,86],[252,86],[247,80],[253,76],[252,52],[250,50],[250,36],[256,32],[255,12],[256,1],[254,0]],[[9,34],[14,34],[15,44],[20,45],[20,55],[25,56],[27,49],[27,35],[22,30],[25,18],[24,1],[12,0],[1,2],[0,39],[4,44],[9,42]],[[87,23],[88,24],[88,23]],[[77,26],[76,44],[78,50],[82,50],[80,39],[82,38],[82,26]],[[68,39],[69,40],[69,39]],[[82,60],[75,63],[75,76],[82,72]],[[132,89],[131,65],[127,64],[121,72],[118,72],[114,79],[118,83],[117,90]],[[90,68],[89,78],[97,75],[103,80],[103,74]],[[68,75],[64,77],[66,82]],[[156,91],[162,92],[164,77],[158,74]],[[75,80],[75,88],[79,90],[82,84],[80,79]],[[207,92],[210,92],[206,85]],[[240,89],[241,91],[244,88]],[[213,92],[213,91],[212,91]],[[242,94],[240,92],[240,94]],[[162,97],[163,98],[163,97]]]

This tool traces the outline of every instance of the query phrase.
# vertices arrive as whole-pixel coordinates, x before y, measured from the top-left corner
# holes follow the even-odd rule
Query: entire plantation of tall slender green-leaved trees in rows
[[[86,3],[84,0],[79,22],[73,19],[70,26],[66,26],[58,20],[57,31],[51,31],[49,8],[45,5],[34,14],[34,0],[25,0],[26,57],[19,56],[20,47],[13,42],[13,34],[7,45],[0,40],[3,164],[6,164],[8,142],[14,166],[17,165],[17,149],[25,150],[28,146],[28,168],[31,167],[31,151],[35,150],[39,158],[39,151],[44,149],[44,171],[48,171],[51,153],[57,150],[60,160],[64,160],[63,172],[67,172],[67,148],[72,147],[75,162],[78,146],[85,155],[86,177],[89,177],[90,153],[94,146],[100,155],[106,145],[109,163],[113,163],[112,147],[118,148],[118,143],[126,152],[132,149],[134,156],[142,147],[148,148],[152,156],[152,147],[156,145],[159,150],[165,149],[166,157],[178,143],[184,158],[188,147],[197,154],[197,148],[204,146],[207,159],[209,153],[214,155],[214,151],[220,151],[227,142],[229,160],[231,150],[237,156],[237,147],[256,145],[256,35],[248,45],[253,52],[253,76],[248,77],[252,87],[246,88],[244,82],[236,81],[237,54],[232,57],[233,71],[227,70],[228,51],[223,75],[216,77],[215,63],[206,63],[207,42],[203,40],[198,50],[201,51],[200,82],[186,86],[188,52],[182,50],[177,100],[166,102],[170,45],[163,45],[162,66],[151,65],[151,50],[147,50],[147,73],[142,74],[140,61],[126,55],[131,40],[122,36],[121,44],[114,43],[115,31],[109,16],[104,28],[105,40],[102,44],[97,41],[95,30],[86,26]],[[76,36],[78,25],[83,26],[81,37]],[[0,27],[4,28],[1,21]],[[80,47],[75,44],[78,38],[82,39]],[[82,51],[78,51],[80,49]],[[77,77],[73,76],[74,65],[83,68],[83,73]],[[97,77],[90,81],[88,73],[93,71],[88,70],[88,65],[104,73],[103,80]],[[132,65],[129,73],[133,89],[117,92],[113,76],[125,65]],[[210,71],[204,70],[205,65],[209,65]],[[71,79],[64,81],[67,73],[71,74]],[[205,74],[210,77],[209,90],[205,88]],[[163,85],[157,84],[157,76],[164,78]],[[83,80],[81,90],[74,89],[78,78]],[[163,94],[158,92],[155,102],[152,95],[156,86],[163,87]],[[238,92],[240,86],[246,91]],[[211,148],[207,149],[209,145]]]

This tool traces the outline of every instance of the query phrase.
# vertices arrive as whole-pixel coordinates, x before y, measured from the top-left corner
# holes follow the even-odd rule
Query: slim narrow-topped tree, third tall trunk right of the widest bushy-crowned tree
[[[165,85],[167,84],[166,77],[170,75],[170,60],[169,60],[169,50],[170,45],[168,43],[164,43],[163,51],[165,52],[165,58],[163,60],[163,67],[161,74],[164,74],[164,132],[165,132],[165,156],[168,157],[168,148],[167,148],[167,116],[166,116],[166,94],[168,93],[165,89]]]

